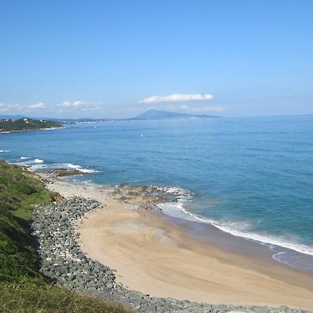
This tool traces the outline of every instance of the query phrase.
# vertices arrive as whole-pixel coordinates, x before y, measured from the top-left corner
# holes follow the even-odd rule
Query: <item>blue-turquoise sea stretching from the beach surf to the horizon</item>
[[[313,255],[313,115],[1,134],[0,158],[34,170],[81,166],[90,173],[78,179],[96,184],[180,186],[193,197],[163,204],[167,214]],[[287,262],[280,254],[273,256]],[[305,267],[313,268],[312,259]]]

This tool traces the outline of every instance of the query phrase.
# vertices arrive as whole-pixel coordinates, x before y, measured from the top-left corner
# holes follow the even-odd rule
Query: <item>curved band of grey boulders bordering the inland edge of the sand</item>
[[[191,303],[129,291],[115,282],[111,268],[84,255],[79,246],[79,234],[75,231],[77,223],[86,212],[100,207],[102,205],[95,200],[79,197],[35,207],[33,234],[38,239],[40,271],[59,286],[110,298],[138,312],[305,312],[288,307]]]

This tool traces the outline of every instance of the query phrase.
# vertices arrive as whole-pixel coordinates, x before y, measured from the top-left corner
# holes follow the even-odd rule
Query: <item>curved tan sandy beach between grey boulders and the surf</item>
[[[81,195],[104,205],[81,220],[81,248],[115,268],[117,281],[129,289],[198,302],[313,310],[310,274],[195,239],[160,212],[136,209],[138,199],[117,200],[112,188],[58,179],[47,186],[64,197]]]

